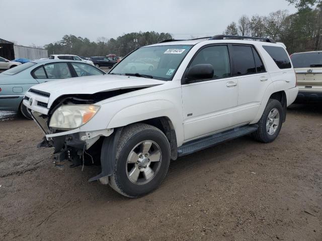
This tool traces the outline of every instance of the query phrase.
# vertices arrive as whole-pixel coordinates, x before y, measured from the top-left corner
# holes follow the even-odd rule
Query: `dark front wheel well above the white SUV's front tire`
[[[162,116],[162,117],[156,117],[151,119],[145,119],[144,121],[140,121],[138,123],[148,124],[160,129],[166,135],[169,141],[170,149],[171,149],[171,159],[172,160],[177,159],[178,147],[177,147],[176,132],[171,120],[168,117]]]

